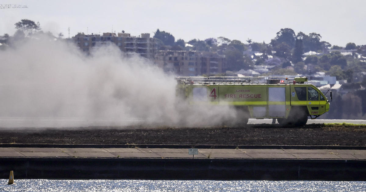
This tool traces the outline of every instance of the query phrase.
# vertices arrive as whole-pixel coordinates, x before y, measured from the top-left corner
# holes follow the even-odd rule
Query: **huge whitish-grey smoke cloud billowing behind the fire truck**
[[[31,119],[29,126],[80,126],[76,120],[84,126],[96,120],[192,126],[235,117],[229,108],[177,104],[173,75],[114,45],[87,56],[72,43],[33,37],[0,50],[0,59],[0,117]],[[75,124],[42,124],[44,119]]]

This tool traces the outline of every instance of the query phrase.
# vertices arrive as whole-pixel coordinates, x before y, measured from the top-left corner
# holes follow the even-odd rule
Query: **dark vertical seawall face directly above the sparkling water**
[[[332,159],[0,158],[1,178],[361,180],[366,162]]]

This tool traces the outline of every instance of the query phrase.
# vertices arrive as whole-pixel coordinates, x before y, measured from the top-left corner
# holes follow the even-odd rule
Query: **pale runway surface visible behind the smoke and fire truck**
[[[0,117],[0,127],[21,128],[21,127],[89,127],[89,126],[127,126],[144,123],[138,118],[129,119],[81,119],[81,118],[29,118],[29,117]],[[271,124],[272,119],[250,118],[248,124]],[[276,121],[276,123],[278,123]],[[318,123],[353,123],[366,124],[366,120],[347,119],[309,119],[307,124]]]

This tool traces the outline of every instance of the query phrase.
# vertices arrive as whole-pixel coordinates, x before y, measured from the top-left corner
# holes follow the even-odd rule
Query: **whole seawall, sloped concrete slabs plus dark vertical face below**
[[[222,146],[199,148],[194,159],[183,147],[75,147],[3,145],[1,178],[13,170],[15,178],[48,179],[366,180],[364,147]]]

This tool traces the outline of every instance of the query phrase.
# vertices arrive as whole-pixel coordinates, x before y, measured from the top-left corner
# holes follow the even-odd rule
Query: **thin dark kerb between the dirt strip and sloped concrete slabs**
[[[2,143],[0,147],[40,148],[206,148],[206,149],[348,149],[366,150],[366,146],[303,146],[303,145],[179,145],[179,144],[21,144]]]

